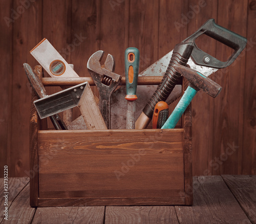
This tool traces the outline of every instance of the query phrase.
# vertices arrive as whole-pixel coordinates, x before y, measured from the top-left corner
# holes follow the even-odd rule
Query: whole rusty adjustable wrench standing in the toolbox
[[[115,59],[111,54],[106,57],[103,66],[100,61],[104,51],[95,52],[88,60],[87,69],[99,91],[99,109],[106,127],[111,129],[110,97],[121,81],[122,76],[114,73]]]

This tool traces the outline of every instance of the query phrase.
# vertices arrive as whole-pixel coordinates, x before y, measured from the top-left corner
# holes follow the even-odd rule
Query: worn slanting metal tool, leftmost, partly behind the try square
[[[41,66],[40,66],[41,67]],[[37,93],[37,96],[39,98],[45,98],[47,97],[47,92],[42,84],[41,80],[38,78],[38,76],[35,74],[33,69],[28,63],[23,64],[24,71],[28,77],[28,80],[34,89],[34,91]],[[42,70],[42,68],[41,68]],[[62,121],[61,117],[58,114],[50,116],[50,119],[53,123],[53,126],[55,127],[56,130],[67,130],[66,124]]]

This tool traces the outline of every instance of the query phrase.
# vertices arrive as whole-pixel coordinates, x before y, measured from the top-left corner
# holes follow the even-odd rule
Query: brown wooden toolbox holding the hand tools
[[[42,130],[32,94],[30,205],[192,205],[191,105],[181,128]]]

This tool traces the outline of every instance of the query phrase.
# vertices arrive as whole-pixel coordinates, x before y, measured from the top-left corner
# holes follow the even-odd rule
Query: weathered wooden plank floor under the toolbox
[[[29,178],[9,178],[8,185],[8,220],[2,194],[0,223],[256,223],[256,175],[194,177],[193,206],[31,208]]]

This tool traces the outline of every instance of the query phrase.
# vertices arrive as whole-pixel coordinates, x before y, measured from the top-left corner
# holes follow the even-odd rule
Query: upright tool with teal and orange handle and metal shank
[[[127,48],[124,53],[125,83],[127,111],[126,129],[135,129],[135,110],[138,74],[139,74],[140,52],[137,48]]]

